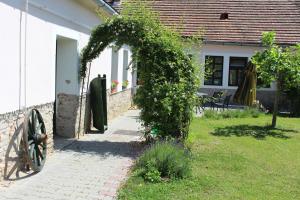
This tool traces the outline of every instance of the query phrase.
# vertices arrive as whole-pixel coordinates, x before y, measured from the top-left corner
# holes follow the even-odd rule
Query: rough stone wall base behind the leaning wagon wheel
[[[43,116],[47,135],[48,153],[53,152],[53,103],[28,108],[36,108]],[[14,179],[23,163],[21,139],[25,110],[0,115],[0,181]]]

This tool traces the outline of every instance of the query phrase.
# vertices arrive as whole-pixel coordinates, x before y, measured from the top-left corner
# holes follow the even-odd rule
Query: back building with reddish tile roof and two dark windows
[[[108,0],[117,10],[126,0]],[[163,24],[175,27],[183,37],[203,32],[199,58],[211,61],[213,73],[203,79],[201,91],[225,90],[233,94],[246,63],[262,50],[261,35],[275,31],[283,46],[300,42],[299,0],[145,0]],[[275,84],[259,88],[257,98],[273,101]]]

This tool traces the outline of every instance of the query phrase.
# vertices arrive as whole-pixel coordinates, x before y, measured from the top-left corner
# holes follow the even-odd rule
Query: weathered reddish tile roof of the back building
[[[261,33],[272,30],[280,44],[300,42],[300,0],[154,0],[151,5],[183,36],[204,30],[206,42],[259,44]],[[229,19],[220,20],[222,13]]]

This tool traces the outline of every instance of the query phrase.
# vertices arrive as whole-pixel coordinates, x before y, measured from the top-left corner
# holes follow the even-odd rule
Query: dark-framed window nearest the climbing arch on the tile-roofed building
[[[205,56],[204,85],[222,85],[223,56]]]

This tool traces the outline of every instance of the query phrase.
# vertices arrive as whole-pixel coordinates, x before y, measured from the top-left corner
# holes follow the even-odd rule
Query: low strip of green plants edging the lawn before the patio
[[[209,119],[226,119],[226,118],[246,118],[254,117],[257,118],[262,114],[258,109],[247,108],[244,110],[225,110],[225,111],[216,111],[216,110],[206,110],[204,111],[204,118]]]

